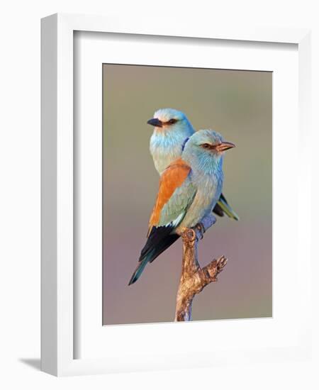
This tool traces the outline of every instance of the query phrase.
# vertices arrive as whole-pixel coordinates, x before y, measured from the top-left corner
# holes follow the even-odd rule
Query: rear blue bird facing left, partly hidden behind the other
[[[150,138],[150,153],[155,169],[161,175],[171,162],[181,156],[184,146],[195,130],[186,115],[174,108],[160,108],[147,124],[154,126]],[[220,194],[213,212],[220,217],[226,214],[229,218],[239,221],[237,213],[223,194]]]

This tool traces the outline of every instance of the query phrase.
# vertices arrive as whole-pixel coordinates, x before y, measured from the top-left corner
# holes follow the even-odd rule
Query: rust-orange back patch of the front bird
[[[159,223],[162,208],[174,194],[175,189],[183,184],[190,171],[191,167],[181,157],[164,170],[159,180],[159,191],[150,217],[149,233],[152,226],[156,226]]]

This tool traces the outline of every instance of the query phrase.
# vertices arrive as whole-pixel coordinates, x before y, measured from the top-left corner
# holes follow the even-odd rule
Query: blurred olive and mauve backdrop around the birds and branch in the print
[[[181,240],[128,286],[159,182],[146,122],[165,107],[236,145],[223,194],[240,221],[217,217],[199,244],[202,267],[228,264],[194,298],[193,321],[272,316],[272,73],[103,65],[103,324],[174,320]]]

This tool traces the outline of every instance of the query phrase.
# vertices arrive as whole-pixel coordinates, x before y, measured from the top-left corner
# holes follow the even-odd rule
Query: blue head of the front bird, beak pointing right
[[[224,152],[232,147],[235,145],[226,142],[220,133],[198,130],[186,142],[181,158],[191,165],[197,164],[201,169],[211,171],[216,164],[222,163]]]

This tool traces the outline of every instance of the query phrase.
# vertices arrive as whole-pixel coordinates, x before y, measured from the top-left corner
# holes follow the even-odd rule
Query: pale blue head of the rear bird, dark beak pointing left
[[[155,111],[153,118],[147,121],[147,124],[154,126],[155,131],[159,132],[184,131],[187,136],[194,133],[194,128],[186,115],[174,108],[161,108]]]

